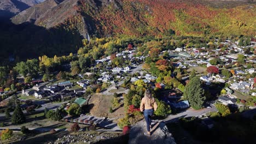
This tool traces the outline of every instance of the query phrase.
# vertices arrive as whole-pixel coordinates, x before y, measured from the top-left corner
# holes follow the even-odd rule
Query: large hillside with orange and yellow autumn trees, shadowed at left
[[[88,34],[253,36],[255,6],[254,1],[46,0],[14,16],[15,25],[0,24],[0,40],[5,41],[0,55],[68,55]]]

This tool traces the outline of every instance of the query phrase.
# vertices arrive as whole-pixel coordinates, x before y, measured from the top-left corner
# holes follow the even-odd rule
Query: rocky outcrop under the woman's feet
[[[147,131],[146,122],[143,120],[134,125],[130,130],[129,144],[135,143],[147,143],[147,144],[174,144],[176,143],[172,134],[169,133],[164,122],[160,122],[159,126],[153,130],[151,136],[145,136],[144,133]]]

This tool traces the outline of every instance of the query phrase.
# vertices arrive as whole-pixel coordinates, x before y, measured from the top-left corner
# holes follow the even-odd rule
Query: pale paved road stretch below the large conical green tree
[[[189,108],[186,111],[177,113],[176,115],[170,115],[167,118],[164,119],[164,122],[169,123],[169,122],[176,122],[178,121],[179,118],[181,117],[197,117],[200,115],[206,115],[209,112],[212,111],[217,111],[216,107],[214,105],[211,105],[210,109],[201,109],[201,110],[194,110],[192,108]]]

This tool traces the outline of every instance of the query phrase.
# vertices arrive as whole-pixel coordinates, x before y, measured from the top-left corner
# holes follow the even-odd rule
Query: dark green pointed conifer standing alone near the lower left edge
[[[20,105],[17,105],[14,112],[13,116],[11,117],[11,123],[13,124],[21,124],[26,121],[26,117],[24,116],[24,113],[22,112]]]

